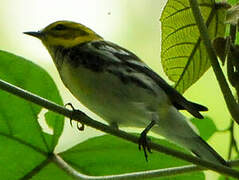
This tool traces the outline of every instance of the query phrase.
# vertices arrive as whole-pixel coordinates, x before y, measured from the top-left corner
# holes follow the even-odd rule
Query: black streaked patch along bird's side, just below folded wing
[[[100,48],[101,46],[99,43],[94,43],[94,47]],[[112,75],[118,77],[124,84],[134,83],[139,87],[147,89],[152,94],[156,95],[155,91],[150,85],[146,84],[143,80],[139,79],[138,77],[133,76],[133,73],[134,74],[138,73],[136,70],[134,70],[131,67],[125,68],[125,66],[127,66],[125,64],[126,59],[129,59],[130,56],[132,56],[132,54],[129,54],[130,56],[127,56],[125,54],[124,56],[121,56],[119,58],[119,53],[112,52],[111,53],[112,57],[115,57],[118,60],[114,61],[109,57],[102,56],[101,54],[92,53],[92,51],[89,51],[88,49],[89,47],[87,47],[84,44],[68,49],[58,46],[57,48],[55,48],[55,54],[56,56],[58,56],[56,59],[58,60],[67,59],[71,63],[71,65],[75,68],[83,66],[94,72],[111,73]],[[115,56],[115,54],[117,54],[117,56]],[[58,64],[59,63],[60,62],[58,62]],[[117,64],[116,67],[118,67],[118,69],[111,69],[110,66],[115,64]],[[125,71],[120,71],[120,69],[124,69]]]

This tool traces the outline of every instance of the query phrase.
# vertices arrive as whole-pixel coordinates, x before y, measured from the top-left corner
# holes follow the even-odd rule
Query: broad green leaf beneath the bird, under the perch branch
[[[153,139],[153,141],[183,151],[182,148],[165,140]],[[149,154],[149,160],[146,162],[143,152],[138,150],[136,144],[110,135],[89,139],[60,153],[60,156],[79,172],[93,176],[145,171],[187,164],[175,157],[159,152]],[[204,179],[204,174],[194,172],[188,175],[160,179]]]

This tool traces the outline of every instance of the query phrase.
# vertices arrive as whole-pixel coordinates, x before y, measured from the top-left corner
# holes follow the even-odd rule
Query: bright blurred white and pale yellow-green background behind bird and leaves
[[[105,39],[132,50],[166,78],[160,64],[159,22],[165,3],[165,0],[140,0],[140,3],[137,0],[1,0],[0,49],[33,60],[42,66],[54,78],[65,103],[73,102],[75,107],[87,112],[93,118],[98,118],[82,107],[66,90],[42,44],[23,35],[22,32],[39,30],[56,20],[77,21],[94,29]],[[205,114],[213,118],[218,129],[228,127],[230,116],[211,69],[184,95],[192,101],[206,105],[209,112]],[[79,133],[67,122],[57,151],[100,134],[99,131],[89,127]],[[209,140],[209,143],[224,157],[228,150],[225,148],[228,145],[227,137],[225,134],[217,133]]]

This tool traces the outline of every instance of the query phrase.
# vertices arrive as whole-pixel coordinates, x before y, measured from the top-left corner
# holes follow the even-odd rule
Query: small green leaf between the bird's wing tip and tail
[[[209,117],[205,117],[200,120],[192,118],[191,122],[197,127],[200,132],[200,136],[204,140],[208,140],[217,131],[217,127],[215,126],[213,120]]]

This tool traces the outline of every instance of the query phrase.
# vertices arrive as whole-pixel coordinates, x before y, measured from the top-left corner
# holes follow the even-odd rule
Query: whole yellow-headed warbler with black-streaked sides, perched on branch
[[[186,100],[134,53],[105,41],[90,28],[57,21],[41,31],[25,32],[42,41],[70,92],[111,125],[144,127],[217,164],[226,161],[188,124],[179,110],[202,119],[205,106]]]

